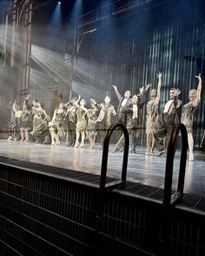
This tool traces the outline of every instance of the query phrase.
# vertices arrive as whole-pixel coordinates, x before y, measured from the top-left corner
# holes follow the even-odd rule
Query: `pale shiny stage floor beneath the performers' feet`
[[[25,160],[30,163],[51,165],[80,172],[100,174],[102,150],[73,148],[63,145],[41,145],[0,139],[0,156]],[[122,152],[113,153],[114,145],[109,146],[108,176],[120,178],[122,170]],[[194,162],[187,161],[184,192],[205,196],[205,152],[195,152]],[[180,152],[175,153],[173,189],[177,185],[180,163]],[[162,157],[145,156],[145,148],[138,147],[137,153],[129,153],[127,179],[163,188],[166,154]]]

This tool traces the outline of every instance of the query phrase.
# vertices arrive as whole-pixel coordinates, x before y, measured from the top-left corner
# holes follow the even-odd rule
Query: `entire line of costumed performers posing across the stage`
[[[186,126],[188,131],[188,159],[194,160],[193,148],[193,114],[200,104],[202,91],[202,78],[199,74],[197,89],[188,92],[188,103],[182,105],[178,98],[181,91],[176,88],[169,90],[169,100],[164,105],[162,115],[159,114],[159,104],[162,88],[162,72],[157,74],[156,89],[150,91],[150,99],[146,104],[146,155],[154,155],[154,148],[158,149],[157,156],[165,152],[164,137],[178,123]],[[83,147],[86,138],[89,139],[90,148],[95,148],[96,133],[99,130],[101,143],[112,124],[112,118],[117,116],[118,122],[125,125],[129,133],[133,133],[131,152],[136,153],[142,129],[141,111],[146,101],[146,93],[151,84],[140,88],[139,93],[131,96],[131,91],[125,91],[122,96],[116,84],[112,85],[116,92],[119,104],[117,110],[110,104],[111,98],[106,96],[103,103],[97,103],[96,99],[90,98],[86,107],[86,100],[78,96],[71,98],[68,103],[60,103],[54,111],[53,117],[47,115],[40,101],[34,99],[29,103],[30,95],[24,98],[23,106],[15,100],[11,106],[11,122],[8,125],[9,140],[27,142],[32,140],[36,143],[60,145],[66,138],[67,145]],[[124,147],[124,136],[116,142],[114,152],[120,152]]]

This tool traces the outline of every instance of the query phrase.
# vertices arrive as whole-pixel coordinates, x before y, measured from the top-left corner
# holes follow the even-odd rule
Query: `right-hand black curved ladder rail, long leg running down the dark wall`
[[[178,176],[178,185],[176,192],[172,195],[172,179],[173,179],[173,165],[175,158],[175,142],[178,137],[179,132],[181,131],[182,137],[182,150],[181,150],[181,159],[180,159],[180,168]],[[161,255],[166,255],[167,249],[167,236],[168,236],[168,225],[169,225],[169,216],[170,216],[170,207],[177,204],[183,196],[184,188],[184,179],[186,171],[186,162],[187,162],[187,150],[188,150],[188,135],[187,129],[184,125],[178,124],[172,129],[169,137],[169,144],[167,150],[167,161],[166,161],[166,170],[165,170],[165,179],[164,179],[164,192],[163,192],[163,201],[162,201],[162,223],[161,223]],[[164,254],[165,253],[165,254]]]

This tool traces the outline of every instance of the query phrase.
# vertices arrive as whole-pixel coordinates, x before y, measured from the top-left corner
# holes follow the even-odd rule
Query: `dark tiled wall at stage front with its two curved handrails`
[[[0,158],[0,255],[205,255],[205,199],[183,193],[186,132],[169,141],[165,187]],[[171,188],[175,138],[182,133],[177,191]],[[169,178],[168,178],[169,177]],[[172,204],[173,199],[175,204]]]

